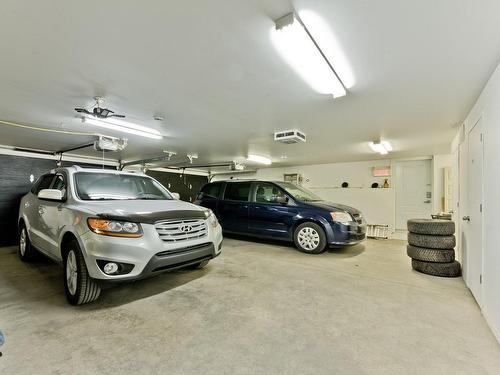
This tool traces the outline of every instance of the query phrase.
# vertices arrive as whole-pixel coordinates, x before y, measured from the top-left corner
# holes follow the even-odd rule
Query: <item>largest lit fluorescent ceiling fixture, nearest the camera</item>
[[[334,98],[346,95],[344,84],[332,63],[298,15],[290,13],[278,19],[271,31],[271,39],[284,60],[315,91],[331,94]]]

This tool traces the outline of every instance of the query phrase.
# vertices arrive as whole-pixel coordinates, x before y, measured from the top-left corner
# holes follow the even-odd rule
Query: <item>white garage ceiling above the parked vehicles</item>
[[[273,19],[293,8],[315,11],[335,33],[356,80],[346,97],[315,93],[273,48]],[[103,95],[166,135],[127,136],[124,159],[169,149],[200,162],[249,152],[283,165],[366,160],[379,137],[394,157],[447,152],[500,60],[499,14],[498,0],[3,0],[0,119],[102,132],[73,108]],[[289,128],[307,143],[274,144],[273,132]],[[4,145],[86,140],[0,125]]]

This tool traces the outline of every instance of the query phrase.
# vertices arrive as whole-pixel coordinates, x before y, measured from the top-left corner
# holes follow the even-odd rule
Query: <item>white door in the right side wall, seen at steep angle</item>
[[[467,261],[465,281],[481,306],[483,274],[483,139],[481,119],[468,135],[467,155],[467,207],[464,215],[463,246]]]

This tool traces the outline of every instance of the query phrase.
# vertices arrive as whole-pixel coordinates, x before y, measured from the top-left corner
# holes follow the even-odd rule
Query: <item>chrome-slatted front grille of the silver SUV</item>
[[[207,235],[205,220],[167,220],[155,224],[160,238],[165,242],[181,242],[202,238]]]

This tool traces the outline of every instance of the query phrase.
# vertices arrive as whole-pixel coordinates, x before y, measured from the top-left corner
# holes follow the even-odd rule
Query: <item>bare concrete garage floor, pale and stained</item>
[[[499,374],[462,279],[415,273],[402,241],[222,256],[66,304],[62,271],[0,249],[0,374]]]

